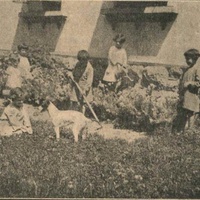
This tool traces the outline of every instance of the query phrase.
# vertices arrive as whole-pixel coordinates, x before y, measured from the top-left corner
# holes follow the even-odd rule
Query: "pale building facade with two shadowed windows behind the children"
[[[55,54],[81,49],[106,58],[116,33],[126,36],[130,62],[184,64],[200,49],[198,1],[0,1],[1,52],[20,43],[42,44]]]

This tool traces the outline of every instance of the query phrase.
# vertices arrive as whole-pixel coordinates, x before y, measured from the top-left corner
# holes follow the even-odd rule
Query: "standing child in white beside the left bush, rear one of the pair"
[[[32,80],[33,76],[31,74],[31,65],[27,58],[28,46],[26,46],[25,44],[18,45],[18,51],[19,51],[18,68],[21,72],[21,76],[26,80],[27,79]]]

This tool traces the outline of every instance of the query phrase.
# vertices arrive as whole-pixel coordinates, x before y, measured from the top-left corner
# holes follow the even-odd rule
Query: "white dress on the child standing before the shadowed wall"
[[[120,63],[123,66],[127,65],[127,54],[124,48],[118,49],[115,46],[112,46],[108,53],[109,64],[105,71],[103,80],[106,82],[116,82],[116,75],[120,73],[122,67],[117,65]]]

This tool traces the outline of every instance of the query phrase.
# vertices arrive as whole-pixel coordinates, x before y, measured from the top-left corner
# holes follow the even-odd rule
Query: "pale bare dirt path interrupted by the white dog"
[[[0,99],[0,109],[3,110],[3,100]],[[28,112],[30,115],[30,118],[32,120],[39,120],[39,121],[50,121],[48,113],[45,112],[39,112],[38,108],[35,108],[31,105],[28,105]],[[1,113],[0,113],[1,114]],[[99,130],[99,134],[102,135],[105,139],[112,139],[112,138],[119,138],[119,139],[125,139],[128,142],[132,142],[139,138],[145,138],[146,135],[144,132],[136,132],[131,130],[125,130],[125,129],[114,129],[112,123],[101,123],[102,129]]]

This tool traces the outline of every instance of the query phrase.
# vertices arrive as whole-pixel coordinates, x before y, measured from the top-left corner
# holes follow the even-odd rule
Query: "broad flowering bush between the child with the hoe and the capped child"
[[[95,110],[102,120],[115,119],[118,128],[148,131],[154,125],[172,122],[178,93],[136,85],[118,94],[96,88],[94,98]]]

